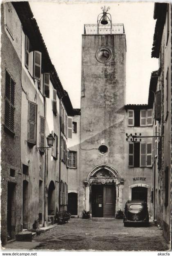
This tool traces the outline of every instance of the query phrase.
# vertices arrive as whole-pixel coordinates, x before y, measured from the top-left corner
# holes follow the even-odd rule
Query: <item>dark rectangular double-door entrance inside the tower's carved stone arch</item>
[[[114,185],[92,186],[92,217],[115,217]]]

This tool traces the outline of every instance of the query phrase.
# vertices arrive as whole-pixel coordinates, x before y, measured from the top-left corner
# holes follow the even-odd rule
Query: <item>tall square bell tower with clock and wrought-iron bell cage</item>
[[[85,24],[82,35],[80,214],[83,209],[92,211],[94,189],[93,185],[86,182],[86,178],[93,168],[107,165],[117,170],[120,177],[124,174],[126,41],[124,25],[112,23],[109,9],[102,7],[103,12],[98,15],[97,24]],[[106,178],[100,185],[115,185],[111,182]],[[118,187],[123,186],[120,182]],[[122,196],[119,189],[116,191],[116,186],[115,192],[110,189],[108,193],[110,191],[113,193],[116,212],[122,206],[118,205],[117,199]],[[110,215],[113,216],[115,212]]]

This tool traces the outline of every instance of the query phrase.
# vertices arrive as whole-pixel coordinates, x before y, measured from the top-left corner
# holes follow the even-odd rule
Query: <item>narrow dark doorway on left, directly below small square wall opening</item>
[[[29,183],[23,180],[23,228],[28,228]]]

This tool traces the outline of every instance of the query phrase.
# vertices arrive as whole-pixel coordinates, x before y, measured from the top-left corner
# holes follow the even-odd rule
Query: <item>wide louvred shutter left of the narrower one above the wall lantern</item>
[[[29,143],[36,144],[36,104],[29,101],[28,106],[28,136]]]

